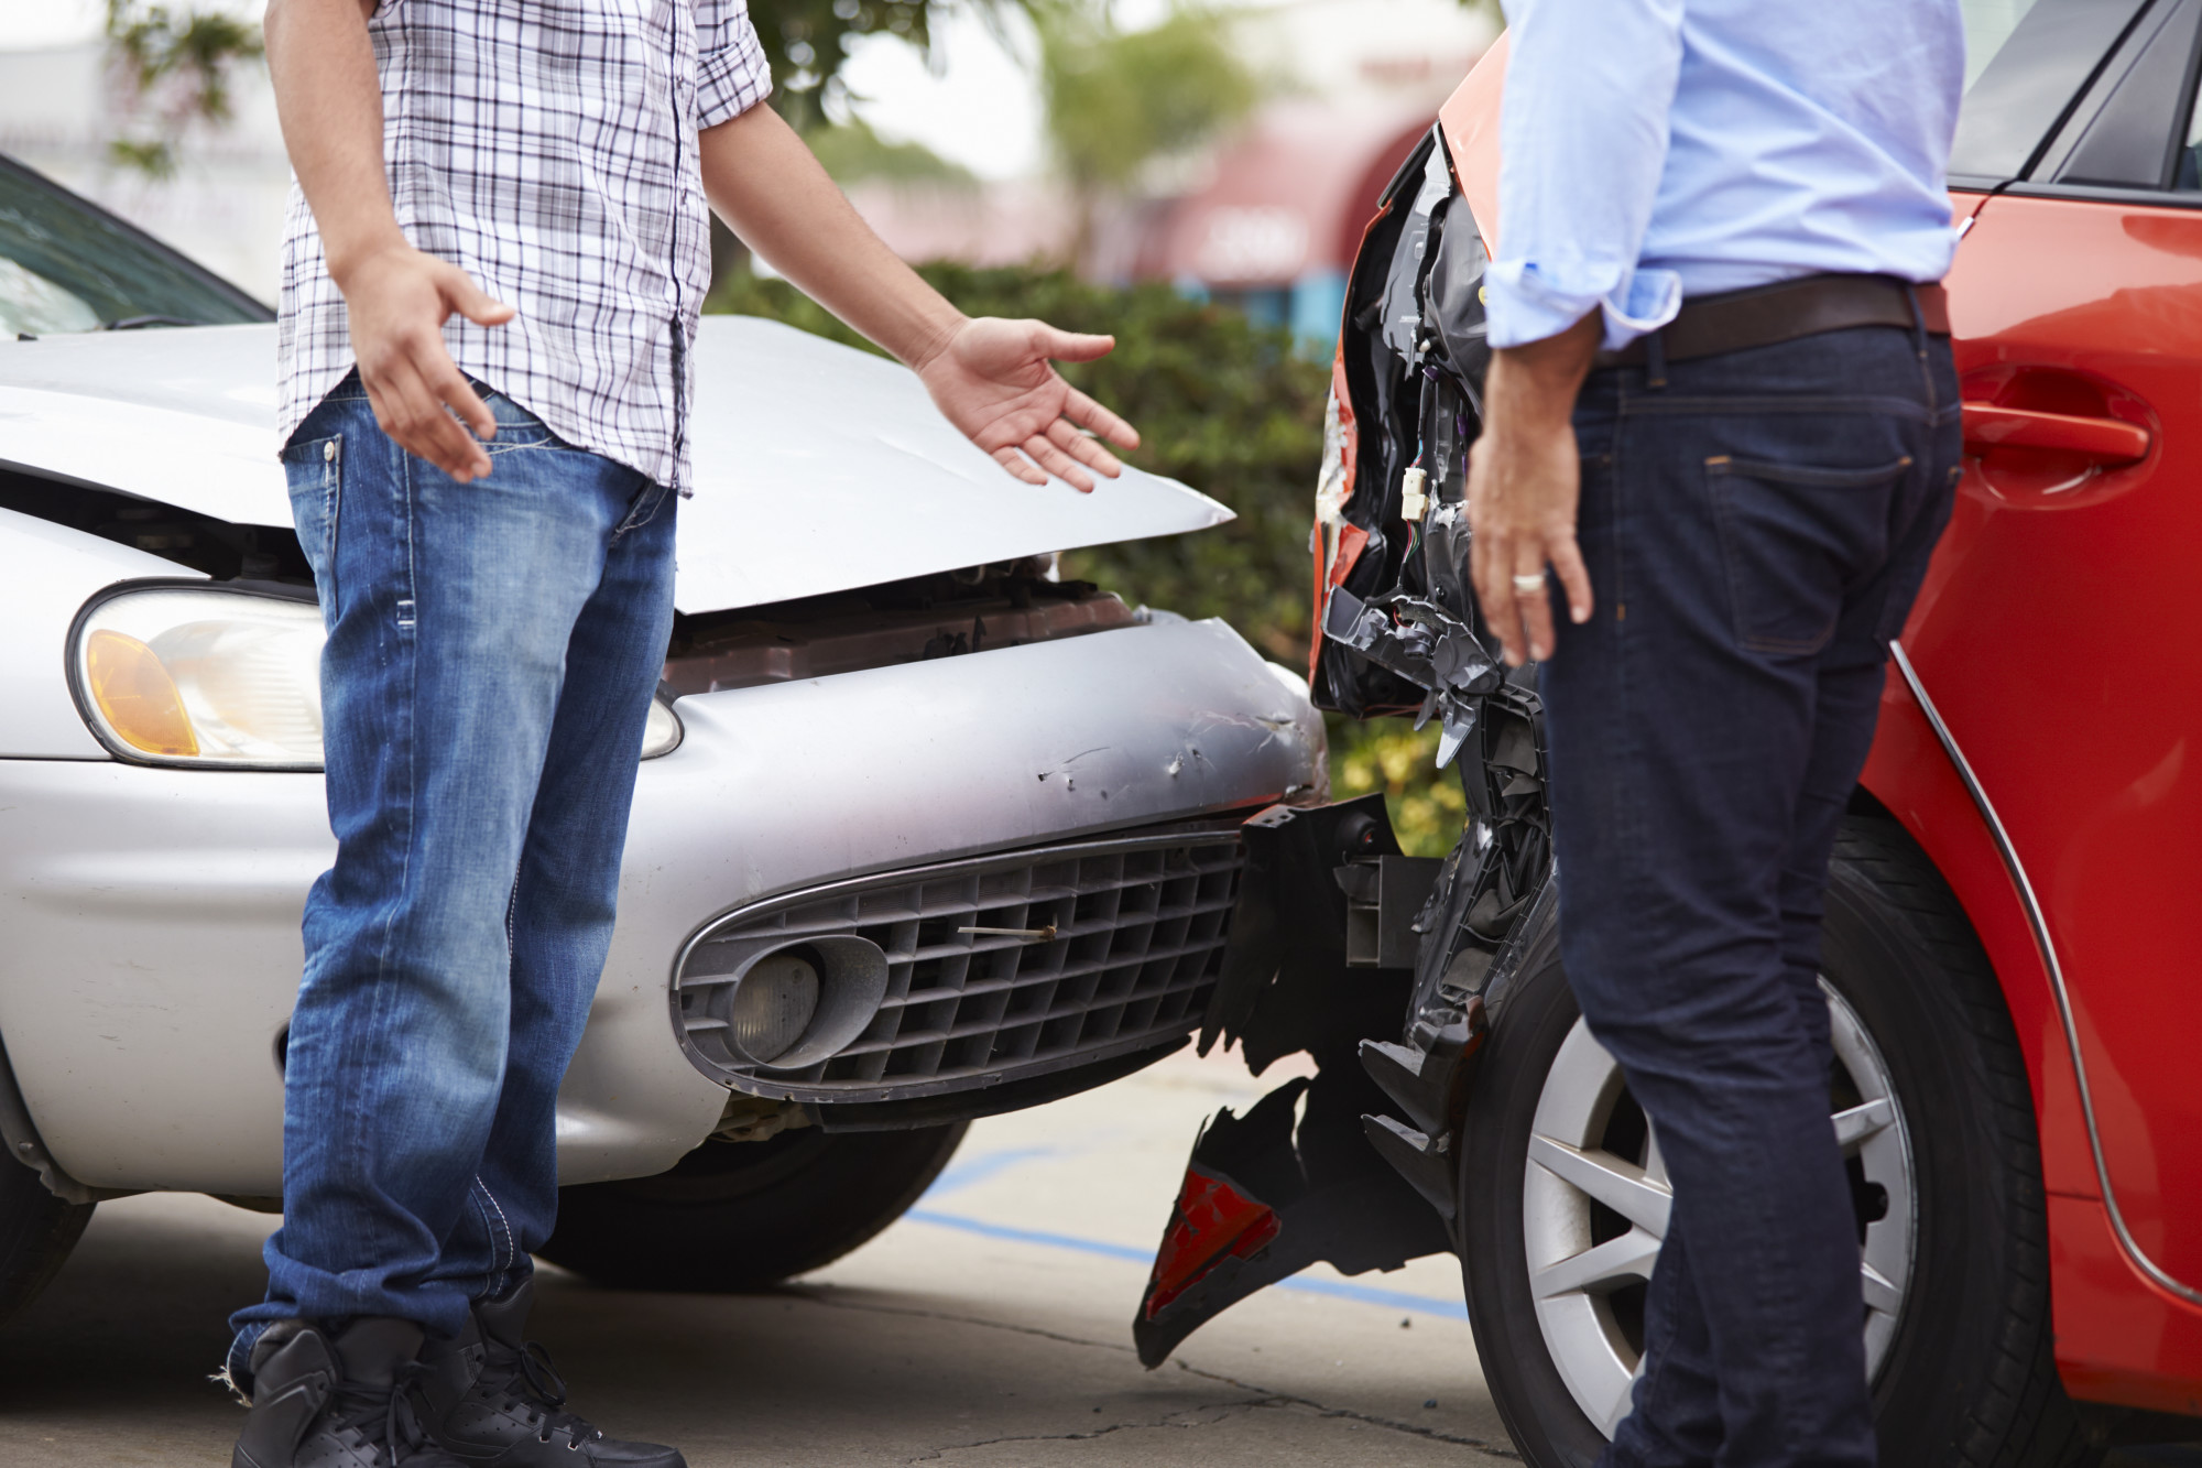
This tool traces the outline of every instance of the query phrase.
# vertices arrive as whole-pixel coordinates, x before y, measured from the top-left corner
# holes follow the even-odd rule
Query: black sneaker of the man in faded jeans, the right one
[[[526,1340],[535,1283],[476,1300],[458,1340],[434,1342],[414,1386],[421,1422],[462,1464],[495,1468],[687,1468],[674,1448],[619,1442],[566,1411],[550,1353]]]

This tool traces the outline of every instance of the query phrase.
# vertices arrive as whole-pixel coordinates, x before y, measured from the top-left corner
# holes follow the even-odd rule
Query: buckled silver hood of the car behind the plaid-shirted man
[[[1138,469],[1024,485],[868,353],[705,317],[676,602],[724,611],[1147,536],[1231,511]],[[275,461],[275,326],[0,344],[0,463],[236,525],[291,525]]]

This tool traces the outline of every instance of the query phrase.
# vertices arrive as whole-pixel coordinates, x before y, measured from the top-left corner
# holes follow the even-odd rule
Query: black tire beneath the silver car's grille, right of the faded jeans
[[[705,1142],[656,1177],[559,1190],[544,1259],[619,1289],[764,1289],[894,1223],[967,1124]]]

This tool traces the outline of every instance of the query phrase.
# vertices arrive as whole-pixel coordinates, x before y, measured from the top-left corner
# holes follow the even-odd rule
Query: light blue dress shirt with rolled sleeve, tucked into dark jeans
[[[1493,346],[1814,271],[1940,280],[1960,0],[1506,0]]]

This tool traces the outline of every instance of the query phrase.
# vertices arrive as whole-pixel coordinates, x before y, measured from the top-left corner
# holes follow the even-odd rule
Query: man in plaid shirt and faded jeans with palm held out
[[[266,51],[337,862],[233,1464],[676,1468],[568,1411],[524,1323],[672,630],[707,209],[1033,485],[1116,472],[1081,430],[1136,445],[1048,366],[1110,339],[896,260],[760,106],[746,0],[271,0]]]

